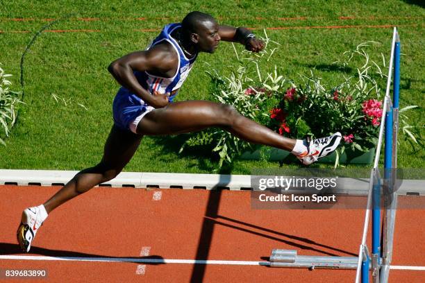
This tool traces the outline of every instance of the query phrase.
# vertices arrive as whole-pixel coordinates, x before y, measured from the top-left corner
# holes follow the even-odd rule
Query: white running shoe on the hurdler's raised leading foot
[[[341,133],[335,132],[335,134],[329,137],[320,137],[310,142],[307,140],[307,151],[297,155],[297,158],[302,164],[310,165],[316,162],[320,157],[324,157],[335,151],[340,145],[341,138]]]

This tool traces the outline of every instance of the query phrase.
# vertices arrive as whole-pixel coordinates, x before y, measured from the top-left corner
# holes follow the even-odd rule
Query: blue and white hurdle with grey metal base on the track
[[[390,97],[392,70],[394,69],[393,100]],[[390,65],[388,67],[387,88],[383,101],[383,113],[379,128],[378,144],[374,167],[369,177],[369,191],[365,212],[363,238],[360,244],[358,257],[331,257],[297,255],[296,250],[273,249],[269,258],[271,267],[287,268],[332,268],[356,269],[356,283],[369,282],[369,273],[372,271],[374,283],[386,283],[390,273],[392,259],[392,243],[394,239],[394,224],[397,210],[397,192],[394,190],[397,169],[397,132],[399,128],[399,85],[400,85],[400,38],[397,28],[394,27],[391,45]],[[384,175],[378,169],[379,155],[385,132]],[[383,184],[383,187],[381,186]],[[382,190],[381,190],[382,189]],[[385,191],[385,194],[381,194]],[[385,207],[381,216],[381,197],[385,198]],[[387,205],[388,200],[390,204]],[[367,247],[367,229],[369,216],[372,210],[372,257]],[[381,217],[383,218],[381,227]],[[382,229],[382,239],[381,239]],[[382,241],[382,242],[381,242]],[[381,250],[382,248],[382,250]]]

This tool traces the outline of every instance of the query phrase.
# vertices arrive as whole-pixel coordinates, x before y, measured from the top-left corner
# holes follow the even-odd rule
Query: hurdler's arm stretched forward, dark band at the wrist
[[[233,26],[219,26],[219,35],[227,42],[239,42],[249,51],[260,52],[264,48],[262,40],[258,40],[248,28]]]

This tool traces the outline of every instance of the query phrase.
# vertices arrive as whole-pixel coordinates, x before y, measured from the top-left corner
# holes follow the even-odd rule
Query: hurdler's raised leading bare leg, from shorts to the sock
[[[211,101],[182,101],[153,110],[138,124],[140,135],[172,135],[219,127],[254,144],[292,151],[296,139],[278,135],[238,113],[235,108]]]

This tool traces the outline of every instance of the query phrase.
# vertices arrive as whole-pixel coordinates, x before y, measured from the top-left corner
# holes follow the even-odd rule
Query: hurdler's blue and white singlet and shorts
[[[176,53],[178,53],[178,67],[176,74],[174,74],[172,78],[162,78],[159,76],[153,76],[147,71],[134,71],[134,75],[138,79],[138,83],[140,83],[144,89],[147,89],[148,92],[153,93],[153,91],[157,91],[161,94],[169,92],[171,94],[169,96],[169,102],[173,101],[178,92],[176,90],[181,87],[185,79],[188,77],[189,72],[193,67],[193,63],[197,59],[197,55],[194,55],[193,58],[187,58],[181,47],[178,45],[178,42],[171,36],[176,28],[181,28],[181,24],[168,24],[165,26],[160,35],[158,35],[158,37],[156,37],[156,39],[153,40],[151,45],[148,47],[149,49],[151,46],[161,42],[169,42]],[[135,119],[137,119],[138,123],[144,114],[147,114],[153,109],[154,108],[144,102],[142,98],[133,94],[125,87],[121,87],[113,102],[113,117],[115,125],[119,128],[135,132],[134,125],[131,126],[131,123],[133,123]],[[137,126],[137,124],[135,126]]]

